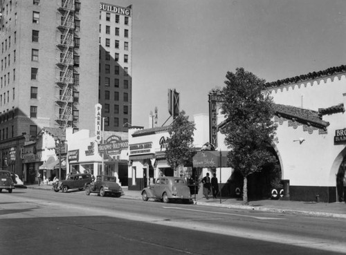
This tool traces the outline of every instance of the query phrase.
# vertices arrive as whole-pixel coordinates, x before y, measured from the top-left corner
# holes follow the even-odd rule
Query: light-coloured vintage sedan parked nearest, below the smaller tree
[[[192,202],[188,183],[184,178],[180,177],[159,177],[155,183],[144,188],[141,194],[144,201],[147,201],[149,198],[155,198],[163,202],[170,202],[170,200]]]

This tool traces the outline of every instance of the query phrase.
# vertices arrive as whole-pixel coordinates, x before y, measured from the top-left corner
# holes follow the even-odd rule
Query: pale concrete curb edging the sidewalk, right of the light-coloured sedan
[[[208,202],[196,202],[196,205],[205,205],[210,207],[224,207],[229,209],[244,209],[253,211],[270,211],[279,214],[298,214],[307,216],[318,216],[318,217],[329,217],[329,218],[346,218],[346,214],[333,214],[320,211],[300,211],[293,209],[277,209],[270,207],[253,207],[251,205],[222,205],[222,204],[212,204]]]

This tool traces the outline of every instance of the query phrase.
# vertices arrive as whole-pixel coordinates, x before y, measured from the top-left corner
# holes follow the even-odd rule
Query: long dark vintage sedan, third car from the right
[[[71,174],[68,179],[55,182],[53,189],[55,192],[62,191],[67,192],[69,189],[85,189],[86,185],[89,185],[93,179],[90,173],[76,173]]]

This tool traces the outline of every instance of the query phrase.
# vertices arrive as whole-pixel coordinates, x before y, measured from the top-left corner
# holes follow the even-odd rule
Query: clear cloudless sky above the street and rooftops
[[[132,125],[189,120],[238,67],[267,82],[346,64],[346,0],[112,0],[132,5]],[[111,1],[109,1],[110,3]],[[172,118],[166,124],[170,124]]]

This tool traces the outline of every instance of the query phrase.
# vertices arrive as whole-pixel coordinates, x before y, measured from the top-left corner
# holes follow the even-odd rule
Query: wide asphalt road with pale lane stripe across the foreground
[[[16,189],[0,254],[346,254],[344,219]]]

